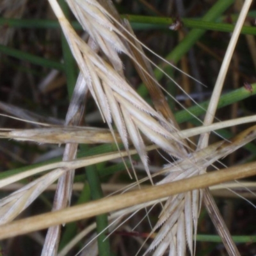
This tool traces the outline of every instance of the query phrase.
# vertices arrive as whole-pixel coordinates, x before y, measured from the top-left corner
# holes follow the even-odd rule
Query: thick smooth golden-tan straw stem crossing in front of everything
[[[186,191],[207,188],[229,180],[250,177],[256,174],[256,163],[243,164],[241,166],[225,168],[224,170],[205,173],[189,179],[177,180],[172,182],[172,186],[170,184],[153,186],[152,188],[140,189],[139,191],[132,191],[124,195],[102,198],[88,204],[69,207],[61,211],[48,212],[24,220],[13,221],[12,223],[1,226],[0,239],[26,234],[35,230],[60,225],[61,223],[82,220],[104,212],[116,211],[134,204],[143,204]]]

